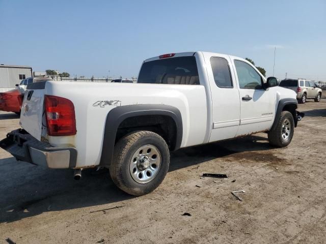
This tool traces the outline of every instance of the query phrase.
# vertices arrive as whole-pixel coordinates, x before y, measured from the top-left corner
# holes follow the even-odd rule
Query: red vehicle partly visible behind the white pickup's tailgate
[[[0,93],[0,110],[20,113],[23,95],[18,89]]]

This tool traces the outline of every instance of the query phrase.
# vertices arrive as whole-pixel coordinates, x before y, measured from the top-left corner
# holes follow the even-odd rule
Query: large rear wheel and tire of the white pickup
[[[115,145],[110,175],[122,191],[142,196],[161,184],[169,164],[166,141],[154,132],[138,131],[124,136]]]

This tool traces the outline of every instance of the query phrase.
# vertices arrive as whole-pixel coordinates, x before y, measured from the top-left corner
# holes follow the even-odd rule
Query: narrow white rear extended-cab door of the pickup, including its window
[[[239,93],[228,55],[205,54],[212,98],[212,131],[209,142],[233,138],[240,122]]]

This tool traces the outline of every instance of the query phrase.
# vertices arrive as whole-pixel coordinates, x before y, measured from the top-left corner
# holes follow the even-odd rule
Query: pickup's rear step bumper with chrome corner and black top
[[[76,148],[51,146],[48,142],[35,139],[23,129],[8,133],[7,137],[0,141],[0,147],[17,160],[31,164],[55,169],[76,167]]]

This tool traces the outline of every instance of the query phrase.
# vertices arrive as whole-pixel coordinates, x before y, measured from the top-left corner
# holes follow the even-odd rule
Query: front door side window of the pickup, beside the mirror
[[[234,64],[240,88],[261,89],[262,78],[253,67],[239,60],[234,60]]]

